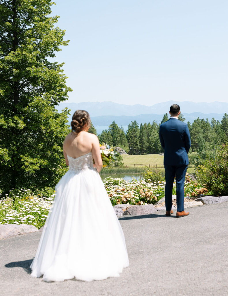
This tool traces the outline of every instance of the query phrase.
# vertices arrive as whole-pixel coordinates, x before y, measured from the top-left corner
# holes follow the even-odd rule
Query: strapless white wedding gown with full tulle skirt
[[[69,171],[56,185],[31,275],[44,281],[119,276],[129,264],[124,234],[92,152],[67,157]]]

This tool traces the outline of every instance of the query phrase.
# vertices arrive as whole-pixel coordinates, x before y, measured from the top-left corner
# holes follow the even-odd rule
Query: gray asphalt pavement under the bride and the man
[[[165,212],[120,218],[130,266],[103,281],[32,278],[40,232],[0,240],[0,295],[227,296],[228,203],[188,210],[178,219]],[[110,252],[118,256],[118,250]]]

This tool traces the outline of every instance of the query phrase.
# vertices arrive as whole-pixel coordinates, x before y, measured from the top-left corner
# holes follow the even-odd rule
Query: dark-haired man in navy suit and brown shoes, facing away
[[[159,138],[165,149],[165,207],[166,216],[172,211],[172,187],[176,177],[177,186],[177,218],[189,215],[184,210],[184,182],[187,171],[188,151],[191,146],[188,125],[180,120],[180,107],[173,104],[170,107],[170,119],[160,125]]]

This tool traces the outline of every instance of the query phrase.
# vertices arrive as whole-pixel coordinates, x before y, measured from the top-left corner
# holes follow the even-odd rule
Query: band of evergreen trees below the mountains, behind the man
[[[161,123],[167,121],[167,113]],[[179,120],[184,121],[180,114]],[[161,124],[160,123],[160,124]],[[155,121],[152,123],[138,124],[132,121],[125,132],[123,127],[113,121],[108,130],[97,135],[100,143],[105,142],[110,146],[123,148],[128,154],[158,154],[164,152],[159,141],[159,126]],[[228,114],[225,113],[221,122],[214,118],[194,120],[192,124],[187,123],[191,136],[191,148],[189,159],[191,164],[199,165],[206,157],[214,157],[216,148],[228,142]],[[95,133],[96,129],[91,126],[89,132]],[[195,152],[195,153],[191,153]]]

